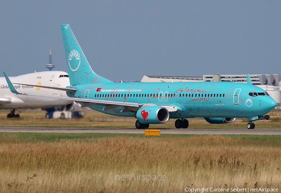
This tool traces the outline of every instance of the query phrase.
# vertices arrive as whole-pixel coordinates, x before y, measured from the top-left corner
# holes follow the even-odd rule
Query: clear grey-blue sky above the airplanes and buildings
[[[92,69],[143,75],[281,74],[281,1],[4,1],[1,71],[67,71],[60,24]],[[0,76],[3,76],[2,74]]]

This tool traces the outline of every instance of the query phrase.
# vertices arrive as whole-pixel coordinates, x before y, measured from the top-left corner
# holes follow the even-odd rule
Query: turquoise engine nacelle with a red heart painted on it
[[[169,111],[165,107],[156,105],[140,108],[136,113],[136,118],[143,124],[166,123],[169,117]]]

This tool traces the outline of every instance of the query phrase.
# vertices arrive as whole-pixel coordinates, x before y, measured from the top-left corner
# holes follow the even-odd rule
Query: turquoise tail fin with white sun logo
[[[71,85],[112,82],[97,75],[89,65],[81,47],[68,24],[62,24],[67,70]]]

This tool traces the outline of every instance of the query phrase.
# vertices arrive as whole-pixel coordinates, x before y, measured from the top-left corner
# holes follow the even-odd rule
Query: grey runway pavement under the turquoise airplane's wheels
[[[44,128],[44,127],[0,127],[0,132],[32,133],[141,133],[144,129],[132,128]],[[281,135],[281,129],[160,129],[161,134],[195,134],[195,135]]]

